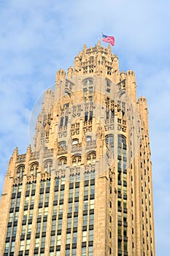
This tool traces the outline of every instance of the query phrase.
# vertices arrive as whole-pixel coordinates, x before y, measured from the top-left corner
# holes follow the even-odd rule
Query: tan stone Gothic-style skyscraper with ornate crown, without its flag
[[[34,145],[9,161],[0,255],[155,256],[147,115],[134,71],[84,45],[45,91]]]

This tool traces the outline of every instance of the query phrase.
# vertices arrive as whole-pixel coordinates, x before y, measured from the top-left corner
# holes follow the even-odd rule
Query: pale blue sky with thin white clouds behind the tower
[[[36,99],[58,69],[114,35],[120,71],[136,72],[137,94],[147,97],[157,256],[170,241],[170,1],[0,1],[0,192],[15,146],[24,154]],[[104,44],[102,42],[103,45]]]

